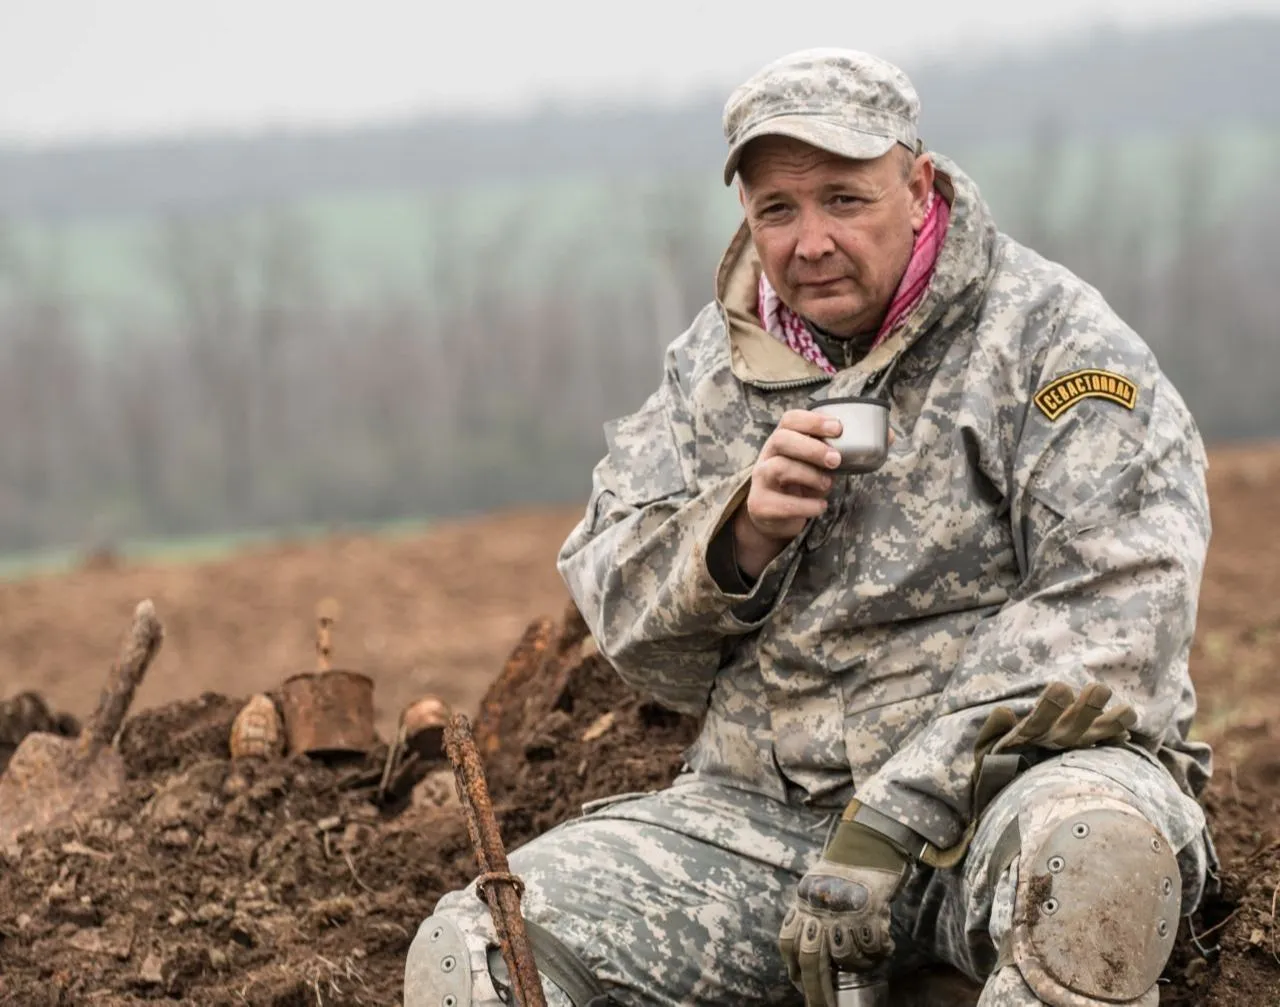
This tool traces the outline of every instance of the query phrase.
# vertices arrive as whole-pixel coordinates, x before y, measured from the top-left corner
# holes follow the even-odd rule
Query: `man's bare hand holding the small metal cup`
[[[751,489],[733,516],[737,566],[748,577],[759,577],[805,523],[827,509],[840,452],[822,438],[838,435],[838,420],[791,409],[764,441],[751,470]]]

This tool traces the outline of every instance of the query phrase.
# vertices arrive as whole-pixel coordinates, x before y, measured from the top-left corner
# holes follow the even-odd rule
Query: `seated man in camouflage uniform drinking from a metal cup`
[[[844,50],[726,106],[746,220],[559,560],[618,673],[704,723],[672,787],[512,855],[553,1004],[831,1007],[837,970],[892,990],[943,962],[983,1007],[1149,1007],[1203,893],[1199,436],[1098,293],[923,151],[918,107]],[[945,241],[883,331],[931,196]],[[762,271],[820,356],[765,330]],[[888,459],[840,475],[810,406],[873,383]],[[492,942],[474,889],[445,896],[406,1007],[499,1002]]]

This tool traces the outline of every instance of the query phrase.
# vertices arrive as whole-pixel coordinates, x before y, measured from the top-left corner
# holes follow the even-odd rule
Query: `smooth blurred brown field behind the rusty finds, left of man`
[[[133,607],[150,598],[165,642],[136,709],[271,688],[315,668],[316,604],[342,607],[334,667],[376,682],[384,737],[424,691],[474,709],[530,619],[567,598],[556,551],[580,508],[460,521],[417,537],[283,543],[198,564],[86,562],[0,582],[0,699],[38,690],[84,717]],[[87,560],[91,558],[87,558]]]

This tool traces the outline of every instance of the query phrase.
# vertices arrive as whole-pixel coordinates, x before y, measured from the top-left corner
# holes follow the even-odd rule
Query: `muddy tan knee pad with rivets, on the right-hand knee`
[[[1180,905],[1178,860],[1149,821],[1082,810],[1023,847],[1011,957],[1052,1007],[1153,1003]]]

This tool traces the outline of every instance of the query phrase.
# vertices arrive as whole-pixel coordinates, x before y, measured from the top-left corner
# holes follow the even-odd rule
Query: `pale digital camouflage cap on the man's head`
[[[916,147],[920,100],[897,67],[852,49],[806,49],[758,70],[724,104],[724,184],[746,145],[783,136],[856,160]]]

